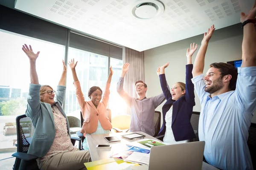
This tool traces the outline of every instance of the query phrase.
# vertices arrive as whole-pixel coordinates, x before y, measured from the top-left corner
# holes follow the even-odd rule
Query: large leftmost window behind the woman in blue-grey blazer
[[[25,114],[29,91],[29,59],[22,45],[41,51],[36,67],[40,84],[56,89],[63,70],[65,46],[0,30],[0,149],[16,151],[16,117]]]

